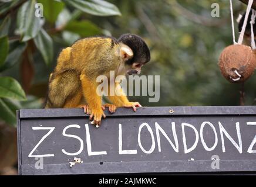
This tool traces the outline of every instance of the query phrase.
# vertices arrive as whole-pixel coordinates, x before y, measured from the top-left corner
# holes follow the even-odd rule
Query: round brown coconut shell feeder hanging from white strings
[[[251,46],[242,44],[244,38],[245,27],[247,26],[249,12],[251,11],[253,0],[249,0],[247,11],[245,13],[244,22],[238,42],[235,41],[235,29],[232,0],[230,0],[230,11],[233,29],[233,45],[225,47],[220,54],[218,66],[221,74],[231,83],[240,83],[240,105],[244,105],[244,82],[251,77],[256,68],[256,46],[254,41],[253,25],[255,23],[256,11],[252,10],[251,14]]]

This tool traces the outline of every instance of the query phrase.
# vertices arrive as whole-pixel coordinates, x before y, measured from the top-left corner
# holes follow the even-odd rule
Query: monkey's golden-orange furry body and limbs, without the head
[[[77,41],[59,54],[55,71],[50,74],[49,92],[45,108],[77,108],[85,100],[96,122],[105,117],[102,109],[102,96],[97,95],[96,88],[99,75],[109,77],[109,72],[119,74],[120,45],[111,38],[92,37]],[[124,72],[121,72],[123,74]],[[123,92],[122,89],[119,90]],[[117,107],[133,107],[137,103],[129,102],[126,96],[109,96]],[[105,105],[113,111],[115,106]],[[88,112],[88,111],[87,111]]]

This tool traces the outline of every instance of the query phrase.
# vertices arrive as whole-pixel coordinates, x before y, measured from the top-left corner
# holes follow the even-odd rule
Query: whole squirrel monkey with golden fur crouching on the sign
[[[55,70],[50,74],[45,108],[84,108],[90,121],[98,127],[103,110],[109,107],[140,107],[139,102],[130,102],[126,96],[110,96],[113,104],[102,106],[102,96],[97,95],[96,82],[99,75],[109,72],[117,75],[139,74],[140,68],[149,62],[150,51],[143,39],[135,34],[123,34],[117,40],[113,37],[88,37],[76,41],[63,49],[58,57]],[[115,88],[119,83],[115,83]],[[110,85],[110,84],[109,84]],[[119,92],[123,93],[119,87]],[[82,101],[86,105],[81,105]]]

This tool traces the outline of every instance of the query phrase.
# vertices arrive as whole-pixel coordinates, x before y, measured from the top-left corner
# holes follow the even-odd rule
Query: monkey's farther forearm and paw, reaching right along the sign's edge
[[[115,88],[118,95],[108,96],[109,100],[117,107],[133,108],[136,111],[136,107],[142,107],[139,102],[130,102],[127,96],[124,94],[123,89],[119,86],[119,83],[115,83]],[[111,89],[111,88],[110,88]],[[113,89],[113,88],[112,88]],[[115,93],[116,94],[116,93]]]

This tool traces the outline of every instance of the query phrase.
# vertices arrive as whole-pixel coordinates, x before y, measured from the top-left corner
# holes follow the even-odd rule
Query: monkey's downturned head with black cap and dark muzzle
[[[150,61],[150,51],[144,40],[135,34],[123,34],[118,39],[120,43],[125,44],[130,50],[123,55],[126,74],[140,74],[142,66]],[[130,52],[132,51],[132,53]],[[130,53],[129,53],[130,52]]]

